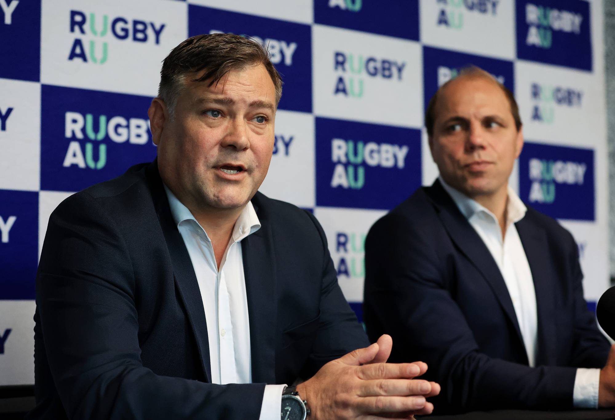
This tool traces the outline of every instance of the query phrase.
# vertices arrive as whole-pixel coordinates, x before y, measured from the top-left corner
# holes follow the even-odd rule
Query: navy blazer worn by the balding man
[[[439,181],[367,236],[368,335],[392,336],[390,361],[429,365],[426,378],[442,385],[438,413],[572,408],[576,368],[606,363],[610,346],[583,298],[573,237],[529,207],[515,226],[536,290],[534,368],[498,265]]]

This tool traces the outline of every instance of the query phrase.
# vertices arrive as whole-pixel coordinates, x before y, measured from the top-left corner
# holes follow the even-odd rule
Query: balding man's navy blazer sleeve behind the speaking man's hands
[[[452,297],[444,274],[452,261],[437,255],[435,230],[392,214],[371,228],[363,308],[370,339],[389,333],[395,362],[427,363],[426,378],[442,386],[440,412],[573,408],[576,368],[530,368],[479,351]]]

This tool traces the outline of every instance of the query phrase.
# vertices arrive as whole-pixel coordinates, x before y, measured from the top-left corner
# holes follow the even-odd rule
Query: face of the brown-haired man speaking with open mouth
[[[162,180],[193,212],[241,208],[269,168],[273,81],[263,65],[232,70],[210,87],[194,77],[186,77],[175,121],[166,118],[157,143],[154,138]]]

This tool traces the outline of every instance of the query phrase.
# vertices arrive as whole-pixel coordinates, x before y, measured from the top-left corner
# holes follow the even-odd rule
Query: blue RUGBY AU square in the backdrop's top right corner
[[[517,58],[592,71],[590,2],[517,0]]]

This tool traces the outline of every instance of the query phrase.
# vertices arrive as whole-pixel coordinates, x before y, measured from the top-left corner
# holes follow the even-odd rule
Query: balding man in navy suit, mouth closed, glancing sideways
[[[440,176],[370,229],[368,335],[390,334],[395,362],[429,364],[437,413],[613,406],[615,360],[583,297],[577,245],[508,187],[523,146],[512,93],[470,68],[440,87],[425,121]]]

